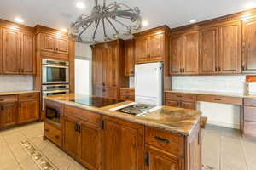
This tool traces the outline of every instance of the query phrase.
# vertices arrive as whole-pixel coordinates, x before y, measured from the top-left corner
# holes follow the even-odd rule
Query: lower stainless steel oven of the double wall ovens
[[[42,95],[56,95],[56,94],[68,94],[69,93],[69,85],[68,84],[50,84],[42,86]],[[44,110],[44,100],[43,100],[43,110]]]

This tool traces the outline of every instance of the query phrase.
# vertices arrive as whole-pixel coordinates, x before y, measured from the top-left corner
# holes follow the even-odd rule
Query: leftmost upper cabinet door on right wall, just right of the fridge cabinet
[[[171,39],[170,74],[182,74],[184,37],[176,36]]]

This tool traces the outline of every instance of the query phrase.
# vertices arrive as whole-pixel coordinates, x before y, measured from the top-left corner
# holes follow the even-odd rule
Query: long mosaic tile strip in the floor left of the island
[[[24,140],[20,142],[21,146],[26,150],[27,154],[32,157],[32,160],[37,164],[41,170],[59,170],[55,165],[49,161],[33,144]]]

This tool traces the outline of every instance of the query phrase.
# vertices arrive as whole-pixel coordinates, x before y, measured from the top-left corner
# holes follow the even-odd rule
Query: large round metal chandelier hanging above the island
[[[131,36],[141,29],[141,24],[139,8],[130,8],[124,3],[116,2],[107,5],[106,0],[99,4],[98,0],[95,0],[91,13],[80,15],[71,24],[70,36],[77,42],[96,43],[99,41],[96,35],[102,33],[102,40],[109,41],[122,36]]]

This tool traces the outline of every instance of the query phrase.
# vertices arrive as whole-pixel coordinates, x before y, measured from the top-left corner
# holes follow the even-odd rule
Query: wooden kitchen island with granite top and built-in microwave
[[[44,139],[51,140],[84,167],[201,169],[200,111],[160,106],[146,116],[133,116],[109,111],[130,101],[92,102],[97,106],[77,102],[83,99],[79,94],[44,98]]]

